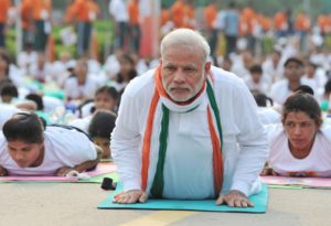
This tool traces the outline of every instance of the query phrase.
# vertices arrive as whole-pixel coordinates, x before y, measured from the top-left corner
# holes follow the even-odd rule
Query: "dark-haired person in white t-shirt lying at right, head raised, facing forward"
[[[297,92],[282,106],[282,125],[268,126],[270,155],[261,175],[331,176],[331,128],[312,95]]]

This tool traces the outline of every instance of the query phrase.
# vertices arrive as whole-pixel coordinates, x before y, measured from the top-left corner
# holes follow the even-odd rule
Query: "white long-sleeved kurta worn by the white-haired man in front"
[[[222,193],[239,190],[249,195],[268,157],[266,132],[257,107],[243,80],[232,73],[212,67],[214,94],[223,129],[224,182]],[[141,189],[141,148],[146,121],[154,93],[154,71],[135,78],[126,88],[116,127],[111,133],[111,154],[118,165],[124,190]],[[151,137],[147,192],[156,173],[161,100],[158,103]],[[212,142],[206,116],[209,98],[190,112],[170,108],[168,148],[164,161],[163,196],[169,198],[213,197]],[[216,123],[215,123],[216,128]]]

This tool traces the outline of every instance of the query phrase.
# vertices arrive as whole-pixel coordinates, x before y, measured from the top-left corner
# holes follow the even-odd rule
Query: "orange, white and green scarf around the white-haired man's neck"
[[[223,184],[223,158],[222,158],[222,127],[221,127],[221,119],[220,119],[220,110],[216,104],[214,90],[211,85],[212,75],[209,75],[209,78],[206,79],[206,83],[202,87],[202,89],[196,95],[196,98],[200,98],[204,90],[206,89],[209,101],[207,105],[207,121],[209,121],[209,128],[212,139],[212,146],[213,146],[213,172],[214,172],[214,194],[215,197],[218,196],[222,184]],[[149,161],[150,161],[150,144],[151,144],[151,136],[152,136],[152,127],[153,127],[153,119],[156,109],[158,106],[158,103],[161,98],[162,100],[162,119],[161,119],[161,132],[159,137],[159,159],[157,163],[157,170],[154,174],[154,179],[151,186],[151,194],[154,197],[162,197],[163,193],[163,169],[164,169],[164,159],[166,159],[166,152],[167,152],[167,140],[168,140],[168,128],[169,128],[169,108],[167,106],[170,106],[171,109],[175,108],[178,111],[182,112],[189,112],[194,110],[199,107],[199,104],[196,101],[193,104],[189,104],[192,106],[189,106],[188,108],[181,108],[180,105],[173,103],[169,95],[166,93],[162,82],[161,82],[161,68],[160,66],[156,71],[156,90],[151,100],[151,105],[148,112],[148,119],[147,119],[147,127],[145,131],[143,137],[143,144],[142,144],[142,166],[141,166],[141,189],[146,191],[147,189],[147,181],[148,181],[148,171],[149,171]],[[196,99],[195,98],[195,99]],[[216,132],[216,129],[214,127],[213,122],[213,116],[211,112],[211,108],[213,110],[213,115],[216,121],[218,134]],[[184,109],[184,111],[183,111]]]

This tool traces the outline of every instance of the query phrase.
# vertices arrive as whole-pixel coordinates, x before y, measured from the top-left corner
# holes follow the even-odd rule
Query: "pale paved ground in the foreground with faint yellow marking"
[[[97,209],[109,193],[99,184],[1,183],[0,226],[331,225],[330,190],[270,189],[266,214]]]

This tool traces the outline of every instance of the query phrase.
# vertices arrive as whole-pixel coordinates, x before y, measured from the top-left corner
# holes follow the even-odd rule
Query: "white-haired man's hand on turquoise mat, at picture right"
[[[216,200],[216,205],[227,204],[229,207],[254,207],[247,196],[237,190],[229,191],[226,195],[221,195]]]

